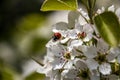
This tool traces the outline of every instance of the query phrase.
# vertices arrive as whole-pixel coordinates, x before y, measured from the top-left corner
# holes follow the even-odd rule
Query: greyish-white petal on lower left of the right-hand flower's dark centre
[[[96,62],[94,59],[87,59],[86,64],[90,70],[96,70],[99,66],[98,62]]]

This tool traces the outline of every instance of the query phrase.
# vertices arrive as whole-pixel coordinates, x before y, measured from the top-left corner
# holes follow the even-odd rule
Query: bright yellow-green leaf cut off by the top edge
[[[41,10],[76,10],[77,7],[77,0],[45,0]]]

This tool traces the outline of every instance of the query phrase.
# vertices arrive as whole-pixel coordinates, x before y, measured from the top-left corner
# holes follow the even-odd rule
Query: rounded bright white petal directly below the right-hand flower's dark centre
[[[111,66],[108,63],[102,63],[99,66],[99,71],[103,74],[103,75],[109,75],[111,73]]]

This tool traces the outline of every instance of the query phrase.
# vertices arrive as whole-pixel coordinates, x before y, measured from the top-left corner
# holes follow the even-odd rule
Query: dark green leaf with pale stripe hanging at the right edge
[[[111,46],[117,46],[120,41],[120,25],[113,12],[104,12],[94,18],[96,27],[102,38]]]

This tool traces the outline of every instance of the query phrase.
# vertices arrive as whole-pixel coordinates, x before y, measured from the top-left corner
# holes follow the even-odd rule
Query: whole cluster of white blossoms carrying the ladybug
[[[120,8],[114,6],[102,7],[95,15],[106,10],[120,17]],[[118,80],[120,47],[107,44],[89,21],[88,14],[79,9],[69,12],[68,23],[54,24],[53,37],[46,44],[44,65],[37,71],[48,80]]]

